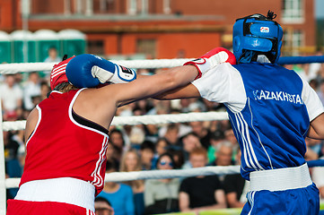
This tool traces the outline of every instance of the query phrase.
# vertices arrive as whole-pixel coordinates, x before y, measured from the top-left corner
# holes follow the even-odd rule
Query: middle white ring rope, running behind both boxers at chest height
[[[226,112],[203,112],[177,115],[115,116],[111,125],[159,125],[228,119]],[[26,121],[4,122],[4,131],[25,129]]]

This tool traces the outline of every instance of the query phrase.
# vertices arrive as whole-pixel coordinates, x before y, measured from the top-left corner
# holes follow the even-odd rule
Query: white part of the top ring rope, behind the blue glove
[[[154,59],[154,60],[111,60],[115,64],[120,64],[133,69],[145,68],[171,68],[186,63],[188,59]],[[57,62],[58,63],[58,62]],[[57,63],[20,63],[20,64],[0,64],[0,73],[27,73],[50,71]]]

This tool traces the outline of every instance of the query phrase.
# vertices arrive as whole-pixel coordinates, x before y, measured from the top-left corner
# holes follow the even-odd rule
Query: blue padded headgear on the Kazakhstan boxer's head
[[[236,20],[232,32],[233,53],[238,63],[256,61],[258,55],[265,55],[271,63],[280,56],[283,29],[273,21],[276,14],[268,12],[267,17],[253,14]]]

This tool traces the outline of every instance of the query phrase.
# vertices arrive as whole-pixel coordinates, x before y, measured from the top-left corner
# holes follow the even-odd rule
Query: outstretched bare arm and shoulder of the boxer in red
[[[75,100],[73,108],[78,115],[109,127],[117,107],[184,86],[196,77],[196,67],[185,65],[134,82],[111,84],[100,89],[86,89]]]

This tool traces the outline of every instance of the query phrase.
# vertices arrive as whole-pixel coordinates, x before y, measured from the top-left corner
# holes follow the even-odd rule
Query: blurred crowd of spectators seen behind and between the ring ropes
[[[324,64],[294,64],[287,67],[310,82],[324,105]],[[159,72],[137,70],[142,74]],[[48,73],[1,75],[0,92],[4,121],[25,120],[31,109],[46,99],[50,92]],[[145,99],[119,107],[117,116],[205,111],[224,111],[224,107],[206,99]],[[23,131],[4,132],[7,177],[22,176],[25,138]],[[306,159],[323,158],[322,141],[307,138],[306,143]],[[228,120],[110,126],[107,172],[239,165],[240,157],[241,150]],[[313,168],[311,174],[324,198],[322,169]],[[8,189],[7,198],[13,198],[16,191]],[[240,175],[110,182],[105,184],[97,204],[101,205],[101,211],[111,212],[113,209],[115,215],[200,211],[242,207],[247,191],[248,183]]]

